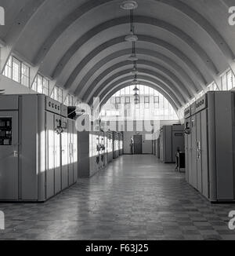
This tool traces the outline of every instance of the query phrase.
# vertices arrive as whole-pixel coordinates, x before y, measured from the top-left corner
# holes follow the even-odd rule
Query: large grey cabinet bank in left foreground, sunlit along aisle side
[[[41,94],[0,96],[0,201],[44,202],[78,180],[75,123]]]

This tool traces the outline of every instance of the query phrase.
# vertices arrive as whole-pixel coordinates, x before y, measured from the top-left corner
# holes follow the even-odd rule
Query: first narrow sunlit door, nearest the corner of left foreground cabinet
[[[46,181],[46,199],[55,196],[55,124],[54,114],[46,112],[46,148],[47,148],[47,170],[45,174]]]

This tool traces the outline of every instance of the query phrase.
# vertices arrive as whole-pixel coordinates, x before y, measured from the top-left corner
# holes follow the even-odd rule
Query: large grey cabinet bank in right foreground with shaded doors
[[[186,181],[211,202],[235,199],[233,92],[208,92],[185,111]]]

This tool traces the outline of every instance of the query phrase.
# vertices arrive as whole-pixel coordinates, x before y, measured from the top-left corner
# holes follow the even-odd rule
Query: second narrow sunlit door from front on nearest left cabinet
[[[61,192],[61,166],[60,166],[60,133],[56,132],[57,126],[60,126],[61,117],[59,115],[55,115],[55,146],[54,146],[54,157],[55,157],[55,194]]]

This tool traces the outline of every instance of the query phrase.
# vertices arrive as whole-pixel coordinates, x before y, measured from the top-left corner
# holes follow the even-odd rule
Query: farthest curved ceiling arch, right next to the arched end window
[[[103,93],[108,93],[108,90],[110,90],[110,88],[113,88],[113,86],[117,86],[118,84],[120,84],[121,82],[132,82],[132,75],[122,75],[120,76],[116,76],[115,79],[111,80],[108,84],[106,84],[105,86],[103,86],[103,90],[101,90],[99,93],[97,93],[96,95],[94,94],[93,97],[103,97]],[[143,82],[143,81],[147,81],[147,82],[151,82],[154,84],[157,84],[158,87],[161,87],[162,90],[164,90],[165,92],[168,93],[168,95],[170,95],[173,99],[173,101],[175,102],[175,104],[179,107],[182,107],[183,104],[185,104],[185,101],[183,101],[179,95],[174,93],[174,90],[172,90],[172,88],[170,86],[168,86],[167,83],[165,83],[164,81],[162,81],[161,79],[158,79],[157,77],[151,77],[147,74],[144,75],[139,75],[139,81]],[[130,85],[130,84],[129,84]],[[87,101],[89,104],[92,102],[92,98],[90,98],[89,101]]]

